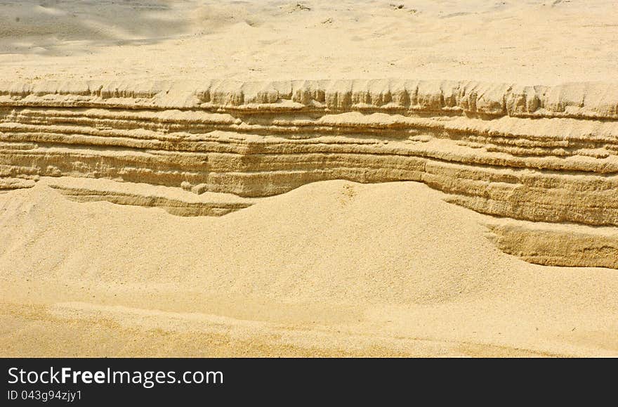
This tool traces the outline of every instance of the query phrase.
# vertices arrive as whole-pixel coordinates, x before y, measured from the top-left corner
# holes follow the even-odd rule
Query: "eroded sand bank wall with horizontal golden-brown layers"
[[[615,84],[6,82],[0,112],[4,190],[110,179],[55,188],[192,216],[314,181],[420,181],[489,215],[505,252],[618,268]]]

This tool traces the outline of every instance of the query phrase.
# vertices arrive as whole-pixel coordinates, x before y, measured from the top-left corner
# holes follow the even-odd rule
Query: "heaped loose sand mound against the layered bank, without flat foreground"
[[[3,201],[2,238],[12,244],[0,262],[10,265],[6,276],[33,280],[177,281],[210,293],[395,304],[495,288],[519,264],[498,256],[467,211],[416,183],[310,184],[223,221],[83,206],[43,186]],[[93,213],[106,213],[104,224],[85,228],[81,219]],[[58,249],[41,258],[51,246]],[[488,253],[500,261],[478,268]],[[127,273],[133,264],[139,270]]]

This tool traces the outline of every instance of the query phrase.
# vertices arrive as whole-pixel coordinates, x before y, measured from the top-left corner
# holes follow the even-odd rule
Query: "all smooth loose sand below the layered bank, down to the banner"
[[[417,183],[313,183],[221,218],[43,184],[0,199],[7,355],[618,352],[615,271],[502,254]]]

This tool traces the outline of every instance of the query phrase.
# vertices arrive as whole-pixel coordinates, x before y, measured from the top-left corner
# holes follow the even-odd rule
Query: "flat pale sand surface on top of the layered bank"
[[[399,8],[402,6],[402,8]],[[0,77],[607,81],[615,1],[0,1]]]

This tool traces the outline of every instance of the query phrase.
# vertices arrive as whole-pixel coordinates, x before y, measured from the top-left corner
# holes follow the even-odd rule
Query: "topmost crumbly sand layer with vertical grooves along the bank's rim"
[[[368,110],[511,117],[618,118],[618,84],[521,86],[396,79],[0,82],[0,105],[202,108],[251,112]]]

